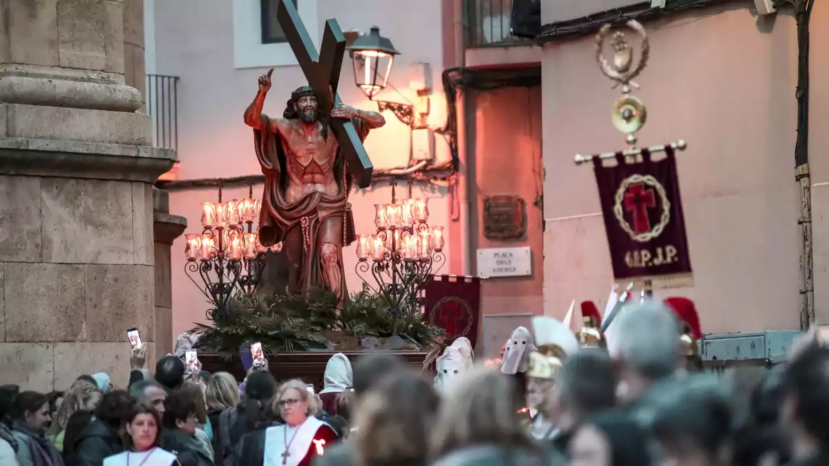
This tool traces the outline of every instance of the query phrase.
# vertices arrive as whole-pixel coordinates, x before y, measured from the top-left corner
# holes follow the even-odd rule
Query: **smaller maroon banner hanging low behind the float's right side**
[[[443,328],[447,344],[467,337],[475,347],[481,318],[481,280],[474,277],[435,275],[425,287],[426,319]]]

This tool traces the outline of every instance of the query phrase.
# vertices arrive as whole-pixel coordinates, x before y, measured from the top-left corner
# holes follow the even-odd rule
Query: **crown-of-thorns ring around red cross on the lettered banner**
[[[650,219],[653,209],[662,211],[655,225],[652,225]],[[630,221],[625,218],[625,213],[629,214]],[[667,192],[657,178],[635,174],[619,184],[613,214],[619,226],[632,240],[647,243],[662,235],[662,231],[671,221],[671,201],[668,201]]]

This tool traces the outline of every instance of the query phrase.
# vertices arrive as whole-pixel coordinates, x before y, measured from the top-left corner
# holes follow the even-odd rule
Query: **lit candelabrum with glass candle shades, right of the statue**
[[[356,273],[389,303],[394,318],[390,348],[405,345],[397,325],[405,312],[419,312],[419,294],[446,262],[444,227],[429,226],[428,199],[398,202],[395,185],[390,204],[375,204],[376,233],[357,235]],[[363,274],[371,271],[372,286]]]

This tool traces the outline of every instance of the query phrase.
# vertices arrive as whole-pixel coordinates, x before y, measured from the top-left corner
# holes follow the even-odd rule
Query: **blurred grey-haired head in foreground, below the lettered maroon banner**
[[[652,300],[628,304],[621,309],[617,325],[613,334],[618,357],[633,371],[651,380],[676,371],[680,324],[664,304]]]

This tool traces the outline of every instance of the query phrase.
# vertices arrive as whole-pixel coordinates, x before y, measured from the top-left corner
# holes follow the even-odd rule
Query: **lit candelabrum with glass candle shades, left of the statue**
[[[207,312],[211,320],[227,317],[227,304],[236,293],[255,289],[268,250],[282,250],[282,243],[270,248],[259,244],[254,222],[259,219],[260,207],[259,200],[253,198],[253,187],[248,198],[223,202],[220,186],[218,202],[201,203],[204,230],[184,235],[185,273],[214,305],[215,311]]]

